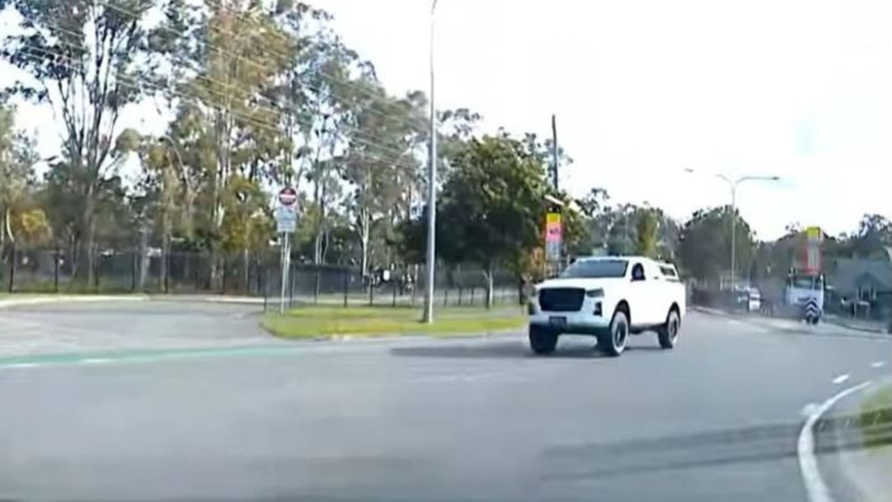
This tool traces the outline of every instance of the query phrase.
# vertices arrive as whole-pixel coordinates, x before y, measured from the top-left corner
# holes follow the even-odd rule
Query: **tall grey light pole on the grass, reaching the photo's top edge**
[[[437,0],[431,3],[431,39],[428,47],[428,63],[431,69],[431,118],[430,118],[430,143],[427,162],[427,256],[425,279],[425,314],[426,323],[434,322],[434,279],[436,273],[436,217],[437,217],[437,116],[434,102],[434,21],[437,9]]]

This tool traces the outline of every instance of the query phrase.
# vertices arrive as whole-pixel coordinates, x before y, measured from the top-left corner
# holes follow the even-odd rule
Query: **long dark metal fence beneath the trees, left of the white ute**
[[[285,288],[276,250],[211,255],[148,250],[96,250],[93,273],[77,270],[62,249],[6,247],[0,254],[0,291],[10,293],[213,294],[262,298],[288,305],[422,305],[425,267],[376,269],[293,262]],[[492,303],[518,304],[522,285],[510,272],[492,273]],[[441,267],[436,305],[485,305],[487,279],[473,266]]]

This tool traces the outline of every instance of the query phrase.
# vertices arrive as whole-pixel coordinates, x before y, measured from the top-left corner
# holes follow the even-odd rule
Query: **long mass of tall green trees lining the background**
[[[428,97],[385,88],[329,13],[285,0],[0,8],[21,20],[0,37],[0,58],[25,76],[0,92],[0,248],[58,250],[86,281],[100,255],[197,253],[212,286],[233,256],[276,257],[275,193],[289,185],[301,208],[295,260],[362,274],[424,263]],[[26,101],[52,108],[62,133],[44,159],[15,125]],[[124,127],[152,105],[157,118]],[[483,135],[467,107],[435,116],[444,267],[476,267],[490,284],[496,270],[540,279],[549,199],[563,201],[563,260],[648,255],[710,280],[728,272],[732,219],[741,274],[776,272],[789,257],[789,241],[756,243],[727,207],[678,222],[600,187],[574,199],[550,184],[550,140]],[[827,249],[875,257],[888,246],[892,225],[865,215]]]

